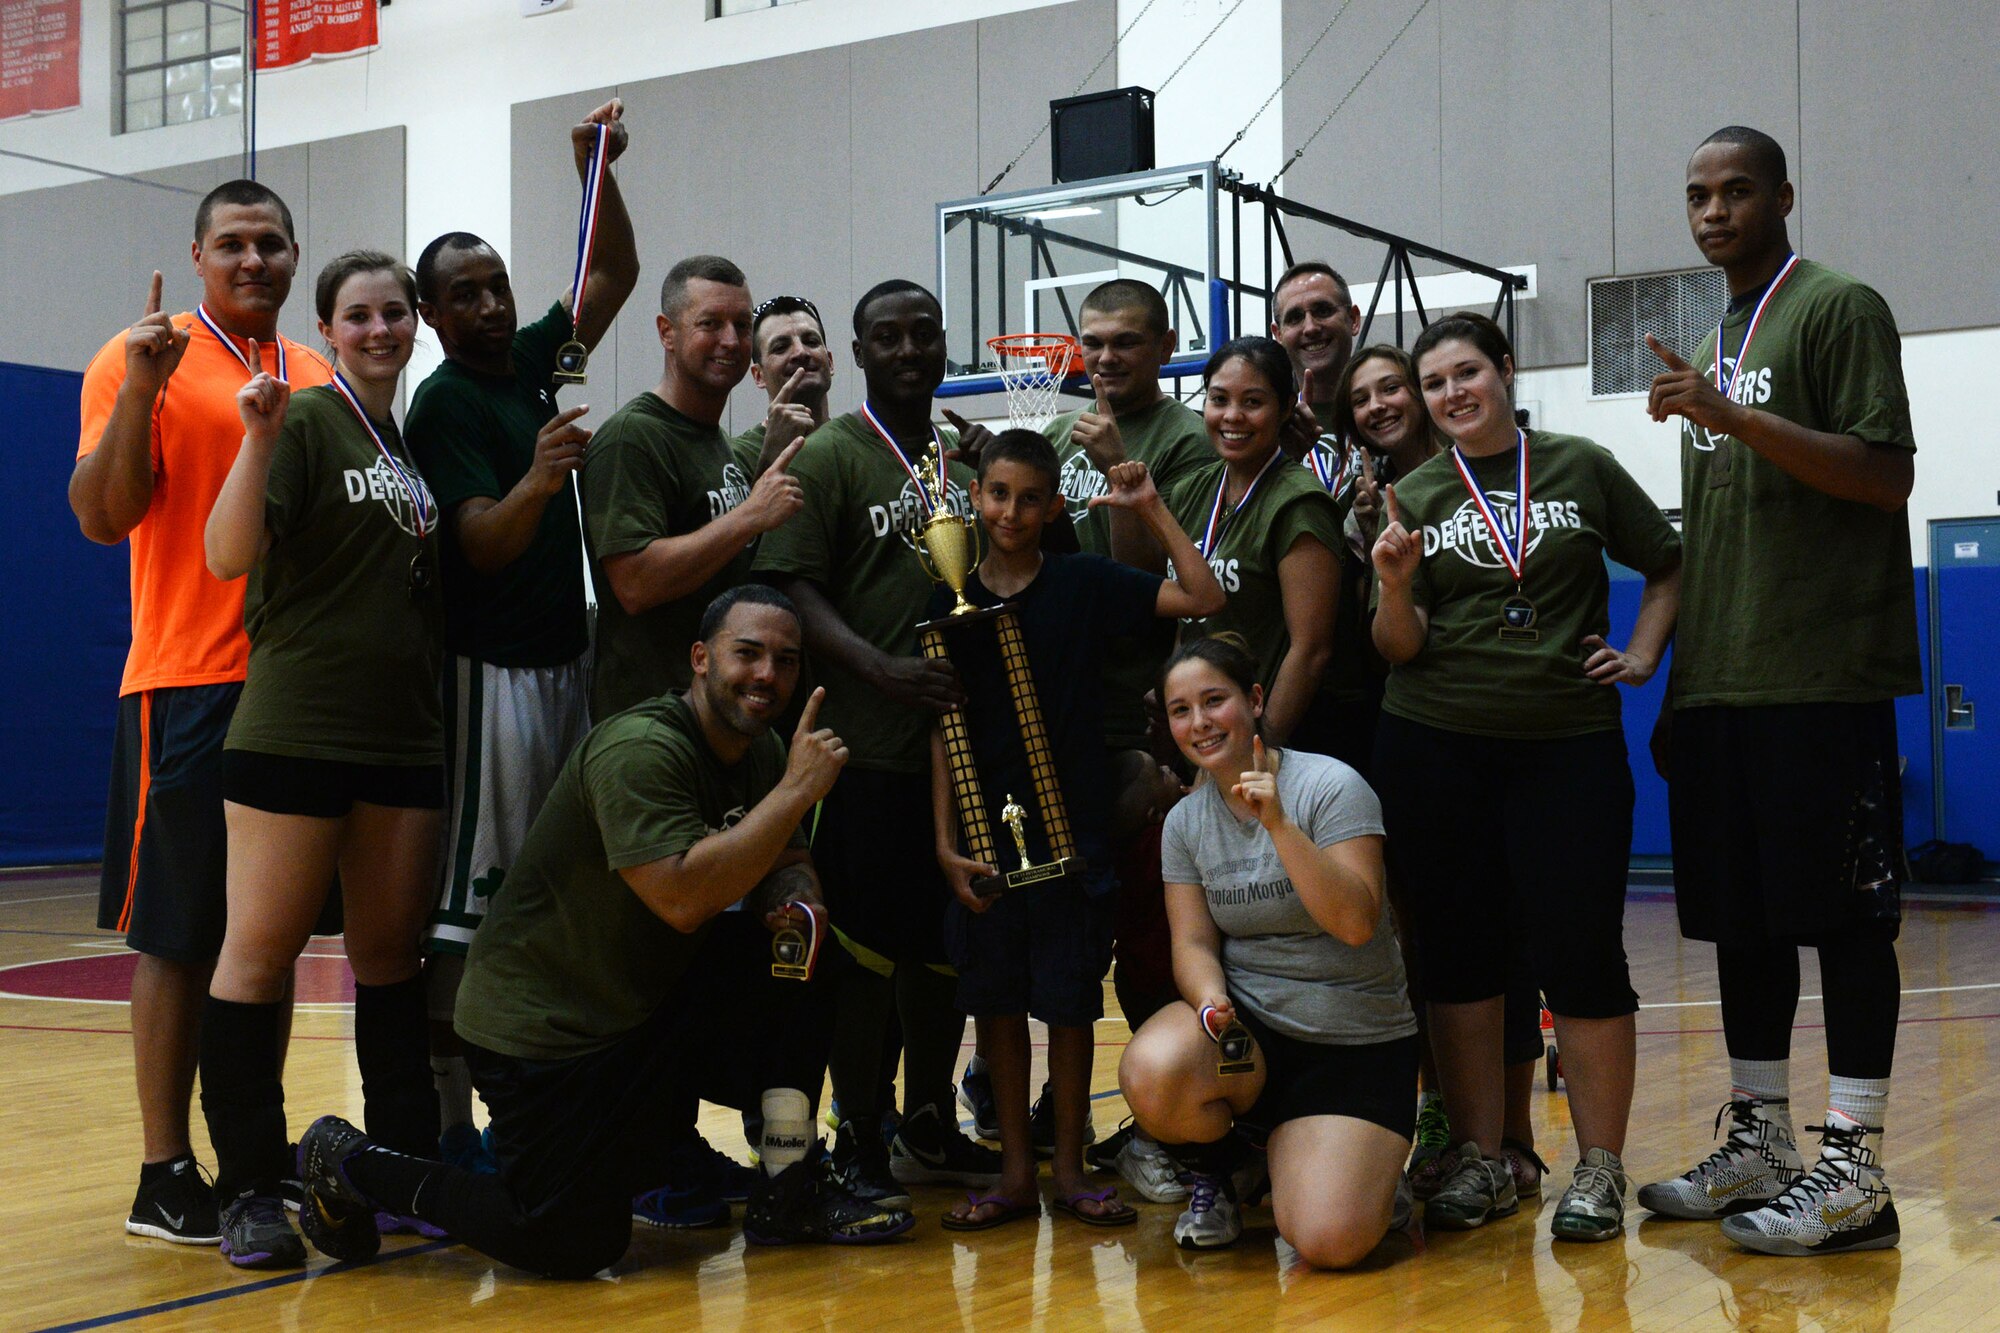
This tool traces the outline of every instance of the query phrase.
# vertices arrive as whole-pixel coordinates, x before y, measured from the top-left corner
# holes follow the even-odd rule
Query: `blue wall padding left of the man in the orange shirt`
[[[0,516],[0,865],[104,853],[132,590],[126,546],[86,540],[70,512],[82,382],[0,362],[14,472]]]

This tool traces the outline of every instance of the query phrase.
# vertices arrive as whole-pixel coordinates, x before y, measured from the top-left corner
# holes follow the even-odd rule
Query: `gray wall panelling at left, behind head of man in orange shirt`
[[[216,158],[144,172],[192,194],[128,180],[0,194],[0,360],[82,370],[140,316],[154,268],[164,274],[162,308],[192,310],[202,298],[188,252],[194,208],[240,174],[238,158]],[[312,316],[320,266],[356,248],[404,254],[402,128],[260,152],[258,180],[292,210],[302,250],[280,328],[322,346]]]

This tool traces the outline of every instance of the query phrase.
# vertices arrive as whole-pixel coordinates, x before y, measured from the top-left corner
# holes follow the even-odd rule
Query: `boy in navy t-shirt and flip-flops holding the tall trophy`
[[[924,470],[934,484],[940,460]],[[1062,512],[1056,452],[1034,430],[1004,430],[980,450],[972,506],[986,536],[946,506],[914,532],[944,586],[918,626],[926,656],[950,656],[966,703],[932,733],[938,865],[952,885],[946,947],[958,1007],[978,1023],[1000,1119],[1000,1183],[944,1217],[984,1231],[1040,1217],[1028,1127],[1028,1019],[1048,1025],[1056,1155],[1050,1207],[1090,1227],[1136,1213],[1116,1187],[1084,1179],[1092,1025],[1104,1015],[1112,957],[1110,793],[1102,731],[1102,654],[1154,618],[1208,616],[1224,594],[1166,512],[1142,462],[1110,470],[1108,504],[1144,522],[1184,582],[1104,556],[1042,550]],[[1126,514],[1120,514],[1124,518]],[[1006,829],[1012,869],[1002,867]]]

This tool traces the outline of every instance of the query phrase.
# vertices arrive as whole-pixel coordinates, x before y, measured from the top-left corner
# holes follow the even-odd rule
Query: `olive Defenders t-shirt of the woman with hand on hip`
[[[1510,532],[1518,448],[1470,458]],[[1610,450],[1574,434],[1528,432],[1528,562],[1520,594],[1534,602],[1532,640],[1500,638],[1514,574],[1442,452],[1396,482],[1396,506],[1424,560],[1410,596],[1430,610],[1424,648],[1388,673],[1382,709],[1476,737],[1582,737],[1618,727],[1618,689],[1584,675],[1586,634],[1610,634],[1604,556],[1646,576],[1680,562],[1680,536]],[[1380,584],[1378,584],[1380,596]]]

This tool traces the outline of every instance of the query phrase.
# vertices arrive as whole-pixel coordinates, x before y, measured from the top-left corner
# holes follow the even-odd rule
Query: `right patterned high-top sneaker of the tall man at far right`
[[[1722,1235],[1762,1255],[1894,1249],[1902,1241],[1902,1225],[1882,1165],[1864,1143],[1870,1131],[1848,1117],[1840,1121],[1810,1127],[1808,1133],[1826,1141],[1818,1165],[1768,1205],[1724,1217]]]

